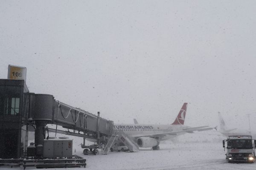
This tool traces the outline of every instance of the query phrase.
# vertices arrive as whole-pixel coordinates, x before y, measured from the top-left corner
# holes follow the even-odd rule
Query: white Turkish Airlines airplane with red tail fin
[[[216,127],[208,126],[184,126],[187,105],[187,103],[183,104],[172,124],[114,124],[114,130],[125,133],[128,137],[132,138],[139,147],[152,147],[152,150],[159,150],[160,141],[172,139],[184,133],[216,129]]]

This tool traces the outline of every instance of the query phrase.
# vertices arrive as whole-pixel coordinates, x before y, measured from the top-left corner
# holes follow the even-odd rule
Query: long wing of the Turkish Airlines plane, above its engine
[[[193,133],[194,131],[204,131],[204,130],[212,130],[215,129],[216,127],[209,127],[209,126],[201,126],[201,127],[189,127],[189,128],[184,128],[183,130],[179,131],[172,131],[172,132],[164,132],[164,133],[154,133],[151,135],[137,135],[135,136],[136,138],[140,137],[164,137],[165,135],[178,135],[179,133]]]

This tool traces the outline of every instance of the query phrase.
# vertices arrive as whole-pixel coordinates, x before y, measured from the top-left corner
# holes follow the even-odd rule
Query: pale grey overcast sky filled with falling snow
[[[115,123],[248,128],[256,120],[256,1],[0,0],[0,78]],[[256,127],[256,126],[255,126]]]

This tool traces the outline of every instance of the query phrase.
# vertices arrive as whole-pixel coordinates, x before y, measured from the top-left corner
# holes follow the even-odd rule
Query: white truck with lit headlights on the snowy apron
[[[225,143],[227,147],[225,147]],[[256,140],[251,135],[229,136],[223,140],[224,151],[227,148],[226,159],[230,162],[255,162]]]

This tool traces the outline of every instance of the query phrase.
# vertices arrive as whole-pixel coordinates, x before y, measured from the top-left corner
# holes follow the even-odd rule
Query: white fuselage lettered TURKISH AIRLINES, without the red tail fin
[[[114,130],[122,130],[126,135],[131,138],[139,138],[145,135],[155,135],[160,141],[174,138],[177,135],[186,133],[178,133],[176,135],[160,135],[161,133],[168,133],[173,131],[182,131],[184,128],[188,128],[184,125],[157,125],[157,124],[114,124]]]

